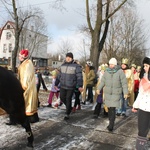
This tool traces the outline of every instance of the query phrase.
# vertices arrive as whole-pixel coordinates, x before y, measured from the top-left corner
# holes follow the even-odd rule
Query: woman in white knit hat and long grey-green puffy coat
[[[109,125],[107,129],[112,131],[114,128],[116,107],[120,107],[120,97],[124,93],[124,98],[127,99],[128,88],[125,74],[119,65],[117,60],[111,58],[109,60],[109,67],[106,69],[102,76],[101,83],[97,87],[97,94],[103,89],[104,103],[108,107]]]

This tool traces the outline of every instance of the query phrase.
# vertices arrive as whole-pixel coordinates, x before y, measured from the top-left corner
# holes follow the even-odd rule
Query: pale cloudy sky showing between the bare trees
[[[44,11],[44,16],[48,25],[49,35],[53,38],[53,43],[48,46],[48,52],[51,49],[58,49],[60,41],[67,39],[74,47],[74,52],[83,42],[83,35],[78,32],[77,27],[86,24],[85,0],[64,0],[63,6],[66,11],[59,11],[50,7],[54,0],[20,0],[21,6],[34,5]],[[134,0],[137,4],[138,15],[144,19],[144,28],[150,31],[150,0]],[[1,4],[0,4],[1,6]],[[2,13],[3,12],[3,13]],[[0,8],[0,25],[6,17],[3,8]],[[147,43],[150,47],[150,40]]]

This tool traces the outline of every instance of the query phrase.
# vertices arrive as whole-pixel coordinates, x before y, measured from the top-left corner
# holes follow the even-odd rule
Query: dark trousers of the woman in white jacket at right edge
[[[138,135],[146,137],[150,128],[150,112],[139,109],[138,111]]]

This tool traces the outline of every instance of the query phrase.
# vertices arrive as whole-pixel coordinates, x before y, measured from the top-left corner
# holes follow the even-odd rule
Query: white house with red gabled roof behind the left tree
[[[46,67],[48,36],[37,33],[34,27],[23,28],[19,39],[19,50],[28,49],[30,59],[36,67]],[[12,51],[15,47],[15,23],[7,21],[0,28],[0,65],[11,65]],[[19,64],[18,58],[16,64]]]

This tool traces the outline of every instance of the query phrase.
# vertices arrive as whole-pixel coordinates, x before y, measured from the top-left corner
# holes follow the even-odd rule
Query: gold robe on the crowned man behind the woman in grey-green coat
[[[134,103],[134,75],[131,69],[124,70],[124,73],[128,83],[129,106],[132,106]]]

